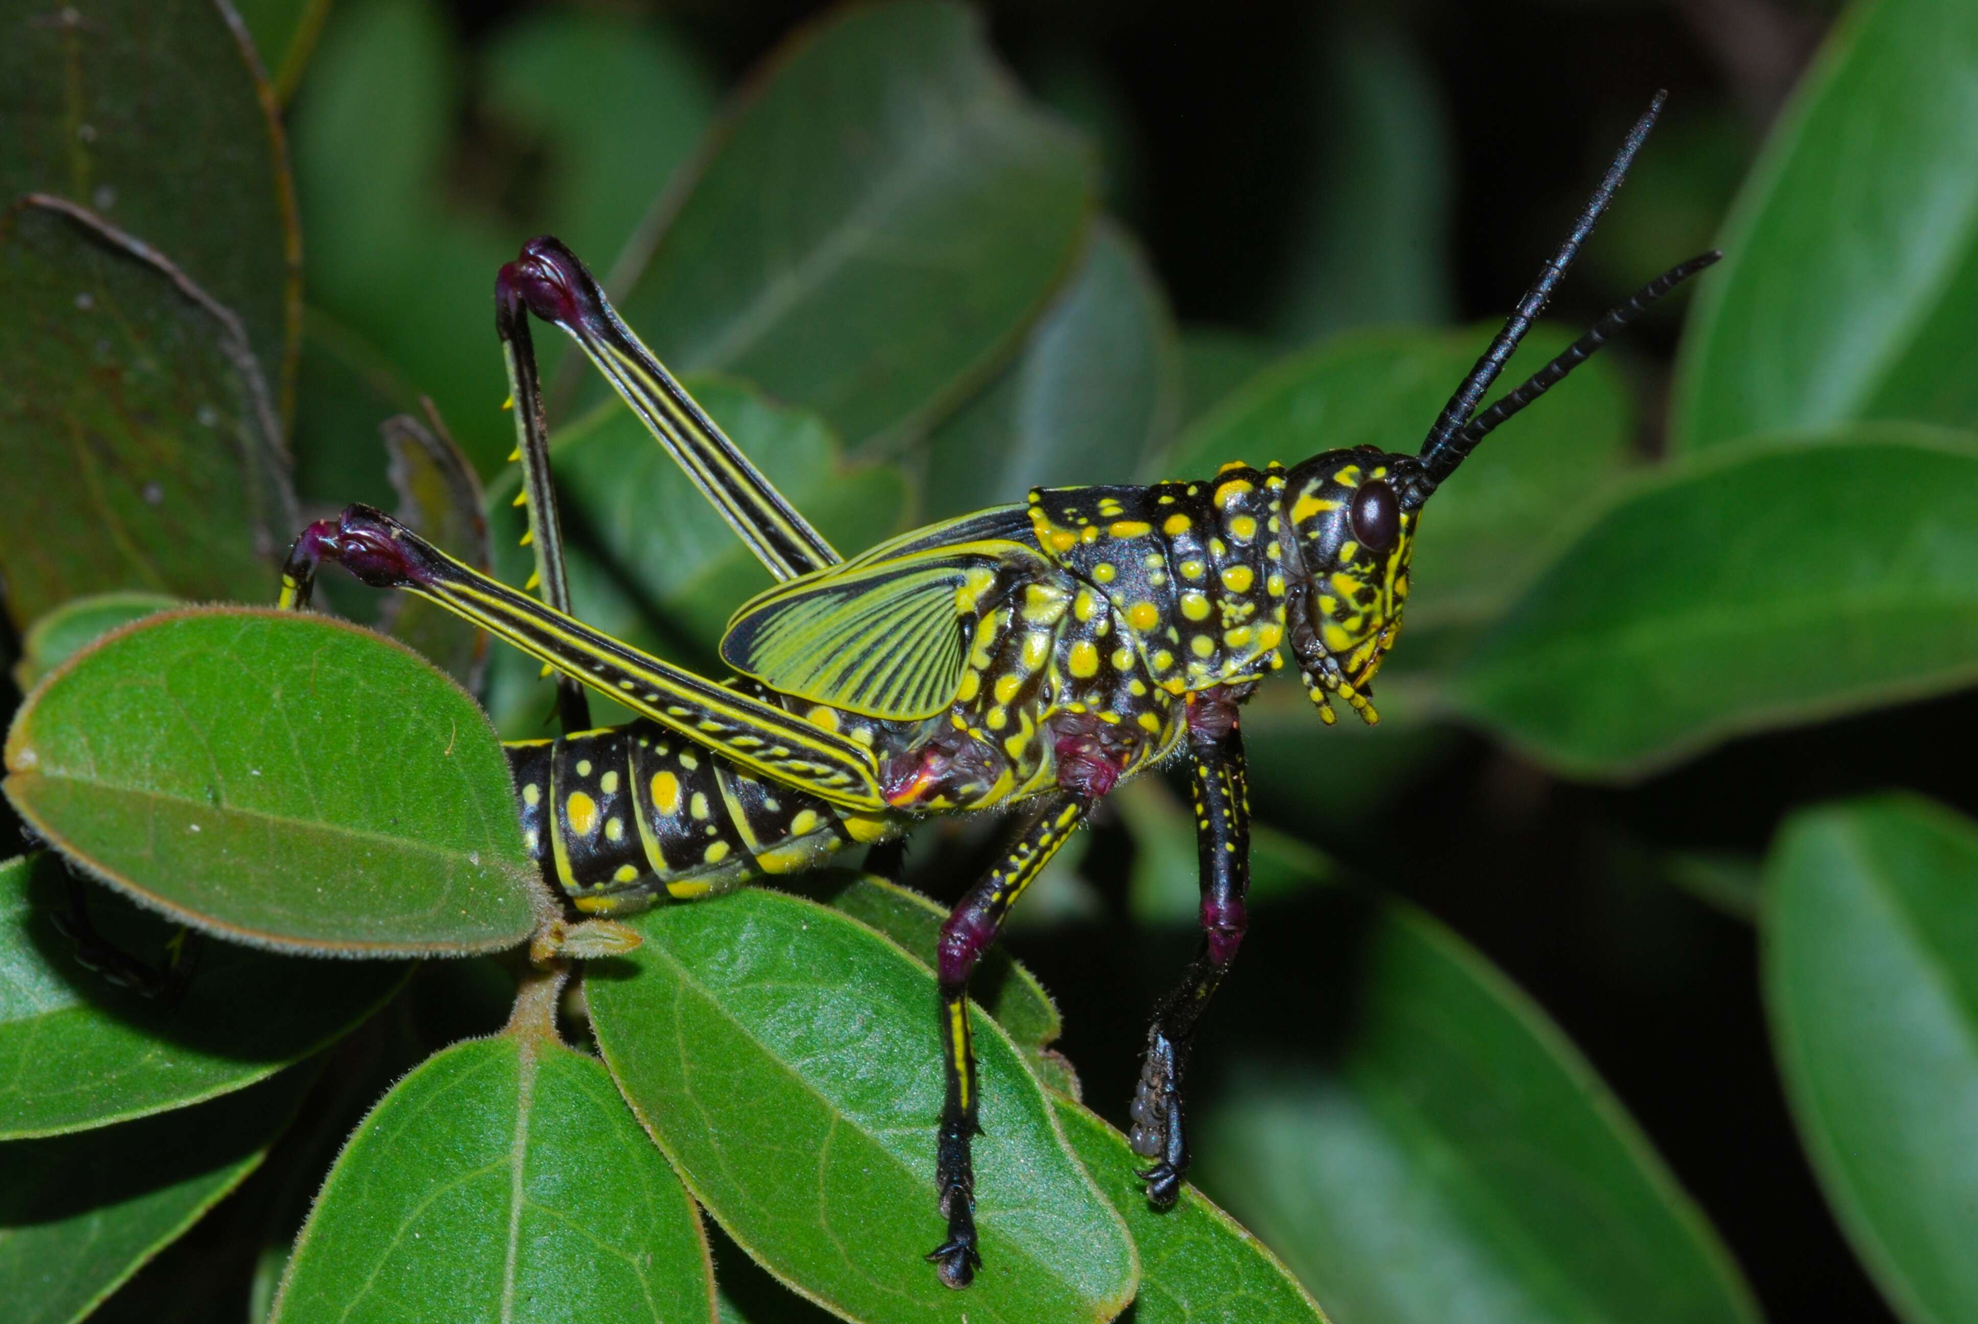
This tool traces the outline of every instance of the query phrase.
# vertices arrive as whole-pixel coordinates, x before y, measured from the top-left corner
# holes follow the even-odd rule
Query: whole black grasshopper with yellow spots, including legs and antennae
[[[1290,655],[1319,716],[1375,720],[1369,683],[1394,645],[1424,503],[1497,424],[1584,362],[1650,301],[1644,287],[1478,414],[1519,338],[1618,188],[1662,99],[1628,135],[1573,234],[1464,378],[1418,453],[1325,451],[1290,469],[1224,465],[1151,487],[1038,489],[843,560],[619,321],[562,243],[524,245],[494,285],[538,600],[354,505],[311,524],[283,604],[320,562],[404,588],[560,673],[564,734],[508,746],[522,831],[585,914],[692,900],[882,843],[930,813],[1019,809],[1023,829],[955,904],[940,942],[945,1106],[936,1146],[951,1286],[981,1263],[967,982],[1009,906],[1114,786],[1171,760],[1195,788],[1203,946],[1147,1031],[1131,1102],[1147,1199],[1189,1166],[1183,1073],[1244,936],[1248,827],[1238,709]],[[528,315],[566,331],[779,580],[722,639],[724,681],[649,657],[570,615]],[[591,730],[582,687],[641,714]],[[991,1118],[993,1124],[993,1118]]]

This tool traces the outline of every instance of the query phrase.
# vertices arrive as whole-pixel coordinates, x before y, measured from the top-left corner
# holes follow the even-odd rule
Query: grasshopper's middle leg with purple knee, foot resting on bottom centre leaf
[[[1076,796],[1048,796],[1003,853],[1003,861],[955,902],[942,924],[942,1055],[947,1096],[942,1102],[942,1130],[936,1144],[934,1182],[940,1209],[947,1217],[947,1241],[928,1259],[947,1286],[967,1286],[981,1267],[975,1245],[975,1166],[969,1142],[977,1124],[975,1041],[969,1033],[969,974],[995,942],[1003,918],[1023,889],[1042,873],[1072,829],[1092,811],[1092,802]]]

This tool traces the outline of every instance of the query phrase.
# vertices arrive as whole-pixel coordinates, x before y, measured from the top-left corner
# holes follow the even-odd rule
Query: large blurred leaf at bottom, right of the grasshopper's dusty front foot
[[[1408,908],[1363,938],[1335,956],[1359,972],[1337,1055],[1238,1073],[1197,1132],[1205,1187],[1327,1310],[1756,1322],[1695,1205],[1523,993]]]

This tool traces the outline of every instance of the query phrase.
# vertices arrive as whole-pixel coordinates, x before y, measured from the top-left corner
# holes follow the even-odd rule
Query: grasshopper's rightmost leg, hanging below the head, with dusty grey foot
[[[1167,1209],[1189,1170],[1181,1079],[1209,999],[1236,960],[1250,891],[1250,800],[1244,790],[1242,732],[1228,718],[1220,732],[1191,722],[1195,851],[1203,889],[1203,946],[1181,982],[1159,1001],[1147,1029],[1147,1057],[1133,1090],[1133,1152],[1151,1158],[1141,1172],[1147,1201]]]

